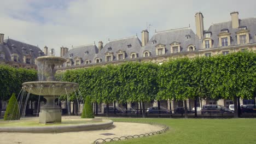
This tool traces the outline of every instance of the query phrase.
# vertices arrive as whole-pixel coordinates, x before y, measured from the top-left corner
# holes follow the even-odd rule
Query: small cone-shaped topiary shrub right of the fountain
[[[84,109],[81,118],[94,118],[94,112],[92,111],[90,96],[87,96],[85,99]]]

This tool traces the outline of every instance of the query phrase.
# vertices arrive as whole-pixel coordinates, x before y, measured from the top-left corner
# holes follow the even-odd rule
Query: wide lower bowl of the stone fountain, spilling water
[[[30,91],[30,93],[36,95],[66,95],[78,89],[78,83],[60,81],[24,82],[22,86],[24,86],[27,92]]]

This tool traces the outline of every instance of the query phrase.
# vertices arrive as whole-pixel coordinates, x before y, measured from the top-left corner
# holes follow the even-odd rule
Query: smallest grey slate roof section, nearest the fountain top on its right
[[[85,52],[88,52],[86,54]],[[82,63],[84,64],[86,59],[91,61],[91,63],[94,63],[94,58],[96,54],[98,53],[98,47],[95,44],[89,44],[89,45],[82,45],[82,46],[76,46],[70,49],[65,56],[65,58],[72,59],[74,65],[74,58],[75,57],[81,57],[82,58]]]

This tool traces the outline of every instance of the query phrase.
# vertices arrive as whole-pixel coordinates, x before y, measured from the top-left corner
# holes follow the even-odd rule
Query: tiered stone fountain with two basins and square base
[[[61,109],[54,100],[58,95],[69,94],[77,90],[78,84],[73,82],[60,82],[55,80],[55,67],[66,62],[65,58],[53,56],[42,56],[36,59],[39,81],[24,82],[22,86],[27,92],[42,95],[46,104],[40,107],[39,123],[61,122]]]

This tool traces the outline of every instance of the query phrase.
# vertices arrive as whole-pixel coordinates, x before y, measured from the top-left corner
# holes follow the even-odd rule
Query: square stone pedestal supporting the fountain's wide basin
[[[45,95],[47,100],[46,104],[40,108],[39,123],[61,123],[61,110],[58,105],[54,103],[54,97],[52,95]]]

